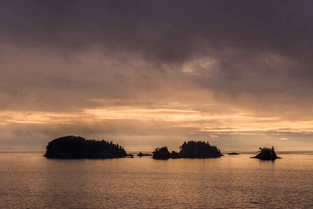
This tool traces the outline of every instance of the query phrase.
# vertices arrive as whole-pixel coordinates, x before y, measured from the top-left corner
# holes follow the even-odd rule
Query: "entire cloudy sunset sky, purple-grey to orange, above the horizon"
[[[0,0],[0,151],[313,150],[312,37],[312,1]]]

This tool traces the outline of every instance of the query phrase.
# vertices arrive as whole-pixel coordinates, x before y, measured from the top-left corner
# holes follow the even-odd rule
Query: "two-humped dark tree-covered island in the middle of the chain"
[[[179,152],[168,151],[168,148],[157,147],[153,152],[153,159],[169,159],[169,158],[215,158],[224,156],[220,149],[215,145],[209,144],[205,141],[188,141],[184,142],[179,147]]]

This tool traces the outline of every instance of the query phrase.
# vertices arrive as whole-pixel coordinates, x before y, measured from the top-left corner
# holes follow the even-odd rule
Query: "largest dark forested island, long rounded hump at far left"
[[[80,136],[64,136],[48,142],[47,158],[121,158],[127,153],[113,141],[85,139]]]

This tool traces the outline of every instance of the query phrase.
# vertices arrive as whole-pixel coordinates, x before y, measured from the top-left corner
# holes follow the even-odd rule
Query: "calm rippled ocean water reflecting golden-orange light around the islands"
[[[0,153],[0,208],[313,208],[313,152],[214,159]],[[138,154],[138,152],[136,152]]]

